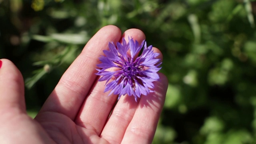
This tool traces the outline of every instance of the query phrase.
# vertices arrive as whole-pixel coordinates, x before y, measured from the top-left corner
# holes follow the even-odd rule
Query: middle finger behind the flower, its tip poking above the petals
[[[126,30],[123,36],[125,36],[127,40],[128,36],[133,37],[139,43],[145,39],[144,33],[138,29]],[[108,96],[109,92],[104,93],[104,89],[105,81],[95,83],[92,92],[84,102],[81,111],[76,118],[76,124],[93,129],[98,135],[102,132],[102,128],[104,127],[117,98],[117,96],[114,95]]]

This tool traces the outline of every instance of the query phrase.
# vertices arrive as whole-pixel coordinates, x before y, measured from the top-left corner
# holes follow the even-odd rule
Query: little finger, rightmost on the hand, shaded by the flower
[[[136,112],[126,129],[123,144],[150,144],[154,138],[168,87],[166,76],[159,73],[160,80],[155,82],[154,92],[142,96]]]

